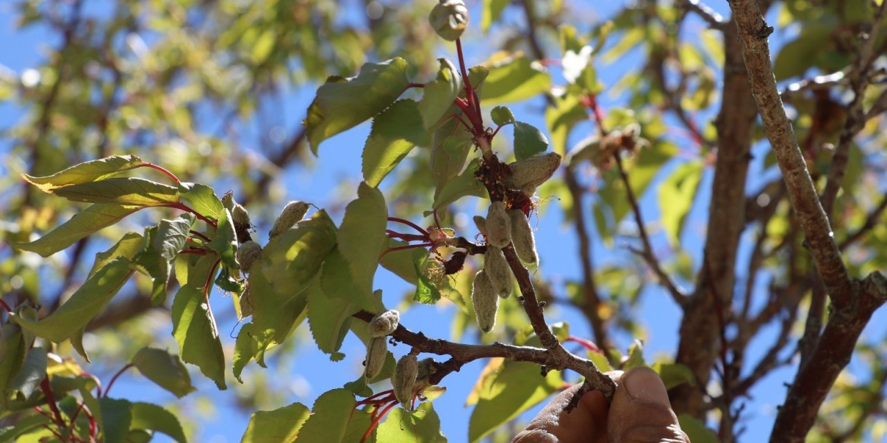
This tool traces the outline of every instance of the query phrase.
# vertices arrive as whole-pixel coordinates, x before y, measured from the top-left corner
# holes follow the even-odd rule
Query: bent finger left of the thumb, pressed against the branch
[[[512,443],[605,443],[607,400],[600,392],[588,392],[569,414],[563,409],[581,384],[559,393]]]

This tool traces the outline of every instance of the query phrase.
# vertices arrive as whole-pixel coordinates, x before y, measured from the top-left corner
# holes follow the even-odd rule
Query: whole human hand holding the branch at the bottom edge
[[[600,392],[588,392],[569,414],[563,412],[581,385],[551,400],[512,443],[690,443],[671,410],[662,378],[638,367],[607,375],[616,393],[607,405]]]

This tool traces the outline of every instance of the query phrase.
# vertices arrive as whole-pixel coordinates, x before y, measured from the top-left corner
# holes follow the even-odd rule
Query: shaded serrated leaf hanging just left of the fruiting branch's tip
[[[326,354],[339,350],[345,334],[348,333],[351,315],[355,312],[357,307],[351,303],[326,297],[319,280],[315,280],[308,288],[308,325],[311,337]]]

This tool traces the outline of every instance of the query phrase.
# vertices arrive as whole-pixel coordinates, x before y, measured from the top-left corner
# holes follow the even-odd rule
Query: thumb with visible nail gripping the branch
[[[690,443],[671,410],[662,378],[647,367],[623,375],[610,403],[607,436],[610,443]]]

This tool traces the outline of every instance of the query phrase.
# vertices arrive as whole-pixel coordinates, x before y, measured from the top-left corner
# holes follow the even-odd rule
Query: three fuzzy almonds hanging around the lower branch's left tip
[[[388,355],[388,335],[397,329],[400,313],[394,309],[373,317],[367,324],[370,342],[366,345],[366,361],[364,376],[367,380],[376,377],[385,364]],[[439,369],[434,359],[419,360],[415,351],[406,354],[397,361],[394,376],[391,377],[394,396],[407,410],[412,410],[412,399],[416,394],[425,391],[430,384],[429,379]]]

